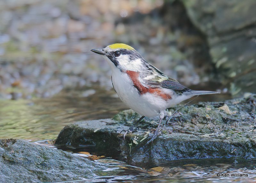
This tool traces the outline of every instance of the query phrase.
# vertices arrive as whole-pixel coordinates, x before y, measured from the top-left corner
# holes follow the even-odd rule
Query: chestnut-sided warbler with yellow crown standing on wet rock
[[[112,70],[112,84],[119,98],[132,110],[145,116],[160,115],[158,127],[148,143],[157,136],[166,108],[174,107],[195,95],[218,92],[194,91],[149,64],[134,48],[127,44],[111,44],[92,52],[107,57]]]

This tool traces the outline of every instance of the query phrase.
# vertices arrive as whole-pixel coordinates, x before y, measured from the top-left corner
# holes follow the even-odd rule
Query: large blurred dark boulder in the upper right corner
[[[255,92],[256,1],[182,1],[205,35],[212,62],[233,95]]]

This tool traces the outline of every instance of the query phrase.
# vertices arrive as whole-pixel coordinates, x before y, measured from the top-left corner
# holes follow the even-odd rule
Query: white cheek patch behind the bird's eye
[[[129,55],[121,55],[116,59],[120,68],[124,70],[131,70],[139,72],[142,68],[142,61],[140,59],[130,60]]]

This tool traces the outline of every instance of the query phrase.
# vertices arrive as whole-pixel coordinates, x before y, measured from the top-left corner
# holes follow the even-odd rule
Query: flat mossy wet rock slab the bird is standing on
[[[161,128],[161,134],[146,145],[158,118],[144,118],[140,130],[123,138],[139,115],[132,110],[113,119],[83,121],[67,125],[55,145],[63,149],[90,149],[99,154],[116,156],[128,163],[158,164],[175,159],[256,157],[256,95],[224,102],[200,102],[180,109]],[[173,109],[172,109],[173,111]],[[247,142],[247,143],[246,143]]]

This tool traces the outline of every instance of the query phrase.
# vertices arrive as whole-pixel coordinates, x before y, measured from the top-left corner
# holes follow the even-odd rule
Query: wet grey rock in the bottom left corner
[[[1,182],[53,182],[109,175],[100,163],[17,139],[0,139],[0,167]]]

